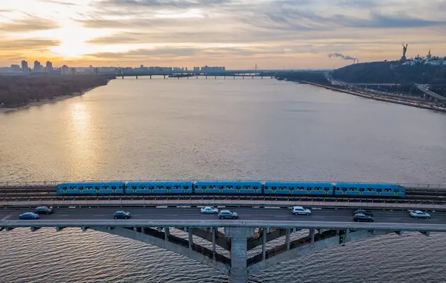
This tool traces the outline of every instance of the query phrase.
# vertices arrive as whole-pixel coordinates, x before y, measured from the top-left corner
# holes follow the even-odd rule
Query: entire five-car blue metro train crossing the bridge
[[[406,197],[398,184],[273,181],[132,181],[56,185],[57,195],[336,195]]]

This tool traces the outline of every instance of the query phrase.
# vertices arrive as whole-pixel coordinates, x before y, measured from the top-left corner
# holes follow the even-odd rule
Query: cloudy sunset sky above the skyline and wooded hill
[[[446,0],[0,0],[0,66],[333,69],[446,56]]]

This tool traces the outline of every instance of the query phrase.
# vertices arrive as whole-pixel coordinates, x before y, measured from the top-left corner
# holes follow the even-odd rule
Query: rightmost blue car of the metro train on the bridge
[[[334,184],[334,195],[406,197],[406,187],[398,184],[336,183]]]

